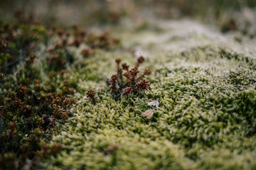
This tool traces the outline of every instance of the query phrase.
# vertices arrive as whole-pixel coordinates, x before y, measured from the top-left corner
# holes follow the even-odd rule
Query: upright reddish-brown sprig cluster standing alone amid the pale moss
[[[115,97],[129,96],[132,93],[137,94],[140,91],[150,89],[150,83],[145,80],[145,76],[152,73],[150,69],[145,69],[143,74],[138,71],[138,67],[145,61],[143,56],[137,59],[136,65],[129,70],[129,65],[126,63],[120,64],[121,59],[117,58],[116,74],[113,74],[108,80],[109,89]],[[124,73],[123,73],[124,71]]]

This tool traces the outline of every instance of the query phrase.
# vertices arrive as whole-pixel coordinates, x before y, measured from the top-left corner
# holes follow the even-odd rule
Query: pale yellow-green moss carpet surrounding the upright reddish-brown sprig
[[[111,28],[122,49],[88,59],[76,49],[67,77],[78,81],[78,102],[52,138],[61,152],[42,168],[255,169],[256,39],[189,19],[131,25]],[[115,100],[106,85],[115,59],[134,64],[139,52],[153,71],[151,89]],[[88,89],[97,92],[96,104]],[[148,99],[159,99],[150,119],[139,108]]]

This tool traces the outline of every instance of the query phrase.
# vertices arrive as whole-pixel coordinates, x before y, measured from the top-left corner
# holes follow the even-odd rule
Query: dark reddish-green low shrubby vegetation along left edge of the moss
[[[77,81],[68,80],[67,68],[76,60],[69,48],[86,43],[84,57],[95,48],[111,50],[119,39],[107,32],[88,34],[76,25],[69,30],[45,27],[15,12],[15,23],[0,25],[0,169],[35,167],[38,158],[54,155],[61,145],[47,144],[56,131],[56,122],[65,122],[76,99]],[[50,39],[55,42],[49,46]],[[36,56],[40,45],[48,46]],[[39,60],[39,67],[36,66]],[[45,82],[46,81],[46,82]],[[93,91],[87,96],[97,101]]]

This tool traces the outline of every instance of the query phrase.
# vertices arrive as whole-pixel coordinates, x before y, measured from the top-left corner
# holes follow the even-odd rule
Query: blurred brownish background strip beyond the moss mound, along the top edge
[[[12,21],[24,10],[42,24],[118,25],[129,19],[147,27],[147,20],[193,18],[227,32],[255,34],[255,0],[1,0],[0,18]],[[16,13],[20,15],[20,13]]]

